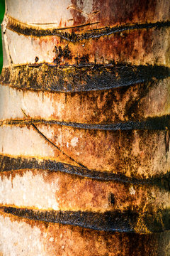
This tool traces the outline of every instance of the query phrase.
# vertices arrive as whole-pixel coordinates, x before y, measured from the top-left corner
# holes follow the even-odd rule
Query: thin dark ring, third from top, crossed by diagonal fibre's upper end
[[[139,130],[139,129],[152,129],[152,130],[165,130],[170,127],[170,115],[162,117],[148,117],[145,120],[138,122],[121,122],[118,124],[81,124],[76,122],[60,122],[57,120],[45,119],[11,119],[0,121],[1,125],[32,125],[32,124],[58,124],[60,126],[73,127],[78,129],[95,129],[103,131],[125,131],[125,130]]]

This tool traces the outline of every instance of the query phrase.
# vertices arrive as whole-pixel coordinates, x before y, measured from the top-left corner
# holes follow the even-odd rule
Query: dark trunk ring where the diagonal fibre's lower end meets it
[[[118,181],[120,183],[130,183],[136,185],[149,185],[170,191],[170,172],[155,175],[150,178],[128,177],[123,174],[111,174],[107,171],[94,171],[71,164],[64,164],[52,160],[26,159],[24,157],[10,157],[0,155],[0,170],[16,171],[24,169],[40,169],[47,171],[61,171],[66,174],[80,176],[82,178],[92,178],[98,181]]]

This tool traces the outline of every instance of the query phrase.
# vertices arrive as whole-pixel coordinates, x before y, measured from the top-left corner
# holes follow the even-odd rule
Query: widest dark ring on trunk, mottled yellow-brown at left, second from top
[[[2,85],[51,92],[108,90],[141,82],[169,78],[170,68],[158,65],[21,65],[4,68]]]

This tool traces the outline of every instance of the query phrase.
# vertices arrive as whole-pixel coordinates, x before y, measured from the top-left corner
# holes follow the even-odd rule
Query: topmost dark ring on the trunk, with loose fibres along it
[[[8,16],[8,24],[6,28],[15,31],[16,33],[21,33],[26,36],[59,36],[60,38],[67,40],[72,43],[77,43],[79,41],[87,40],[89,38],[100,38],[101,36],[109,36],[113,33],[121,33],[123,31],[130,31],[134,29],[149,29],[149,28],[166,28],[170,26],[170,21],[157,21],[154,23],[135,23],[132,25],[123,25],[123,26],[115,26],[112,28],[98,28],[93,29],[93,25],[100,23],[99,21],[94,23],[85,23],[79,26],[72,26],[66,28],[50,28],[43,29],[42,27],[36,28],[35,26],[30,26],[26,23],[22,23],[21,21],[17,21],[15,18]],[[74,28],[81,28],[84,26],[92,26],[92,29],[86,31],[85,33],[77,34],[77,33],[69,33],[62,32],[63,30],[69,30]]]

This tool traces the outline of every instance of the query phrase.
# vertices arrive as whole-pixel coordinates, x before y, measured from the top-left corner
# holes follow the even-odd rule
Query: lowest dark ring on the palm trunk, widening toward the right
[[[106,211],[94,213],[92,211],[56,211],[56,210],[30,210],[27,208],[0,207],[5,213],[16,215],[30,220],[40,220],[48,223],[74,225],[93,230],[108,232],[132,233],[160,233],[170,230],[169,210],[159,210],[157,213],[137,213],[132,210]],[[159,215],[159,218],[157,218]],[[141,223],[141,224],[139,224]],[[145,226],[142,226],[144,223]]]

